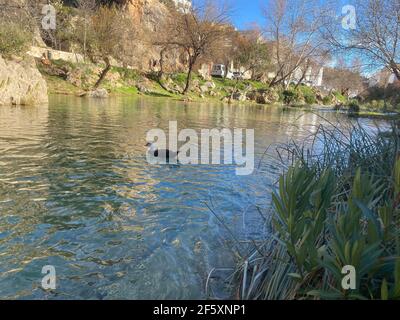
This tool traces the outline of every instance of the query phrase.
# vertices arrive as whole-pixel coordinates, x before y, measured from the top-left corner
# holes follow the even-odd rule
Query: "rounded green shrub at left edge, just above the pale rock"
[[[0,22],[0,54],[6,57],[24,54],[31,41],[31,33],[19,24]]]

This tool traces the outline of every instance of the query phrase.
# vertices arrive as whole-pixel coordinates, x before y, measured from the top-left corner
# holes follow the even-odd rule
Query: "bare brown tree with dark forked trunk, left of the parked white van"
[[[224,41],[229,27],[229,14],[230,7],[227,4],[218,6],[212,1],[184,11],[170,10],[170,17],[163,28],[164,37],[155,44],[162,48],[162,54],[168,50],[182,50],[186,54],[187,77],[182,94],[186,94],[190,88],[195,64]]]

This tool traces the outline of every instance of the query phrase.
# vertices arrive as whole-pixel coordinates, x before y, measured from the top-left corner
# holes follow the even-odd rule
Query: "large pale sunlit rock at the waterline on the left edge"
[[[48,103],[47,84],[32,58],[5,60],[0,56],[0,105]]]

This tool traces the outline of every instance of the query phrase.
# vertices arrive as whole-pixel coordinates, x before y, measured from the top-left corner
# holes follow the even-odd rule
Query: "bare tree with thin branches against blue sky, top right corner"
[[[357,54],[363,68],[386,68],[400,80],[400,0],[357,0],[355,28],[331,19],[325,29],[338,53]]]

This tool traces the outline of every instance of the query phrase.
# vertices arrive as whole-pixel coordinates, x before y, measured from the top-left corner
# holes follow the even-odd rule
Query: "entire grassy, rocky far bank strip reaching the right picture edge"
[[[102,65],[71,63],[53,60],[44,65],[36,59],[38,69],[45,78],[49,94],[86,96],[93,87]],[[230,80],[212,77],[203,79],[192,74],[190,89],[181,94],[186,81],[183,73],[164,75],[161,80],[154,73],[141,73],[137,70],[111,67],[102,86],[104,98],[111,96],[148,96],[169,98],[185,102],[247,103],[276,105],[293,108],[319,108],[347,113],[350,117],[371,117],[397,119],[400,114],[391,107],[386,107],[381,100],[361,104],[349,99],[338,91],[323,93],[305,85],[297,88],[290,86],[269,87],[268,83],[255,80]],[[106,90],[106,92],[104,91]],[[101,91],[100,91],[101,92]]]

